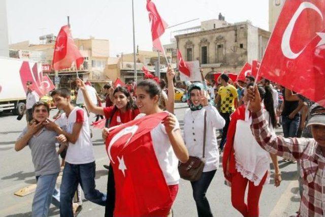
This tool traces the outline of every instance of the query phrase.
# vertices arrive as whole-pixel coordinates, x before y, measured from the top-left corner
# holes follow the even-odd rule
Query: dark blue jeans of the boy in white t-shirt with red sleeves
[[[95,162],[88,164],[66,162],[60,187],[60,216],[73,216],[72,199],[78,188],[78,183],[80,183],[87,200],[105,206],[106,195],[95,189],[95,172]]]

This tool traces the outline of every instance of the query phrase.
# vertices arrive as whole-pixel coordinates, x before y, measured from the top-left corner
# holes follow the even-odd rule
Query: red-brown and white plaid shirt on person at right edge
[[[298,216],[325,215],[325,157],[314,139],[284,138],[271,133],[262,111],[252,113],[252,132],[265,150],[298,160],[303,177],[303,196]]]

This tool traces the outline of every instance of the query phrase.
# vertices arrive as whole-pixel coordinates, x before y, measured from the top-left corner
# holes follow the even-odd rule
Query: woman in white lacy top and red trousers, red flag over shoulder
[[[252,84],[249,84],[252,86]],[[258,87],[261,101],[264,99],[264,115],[268,126],[273,133],[276,127],[276,117],[273,108],[272,90],[270,87]],[[243,101],[247,102],[247,92]],[[260,102],[261,103],[261,102]],[[226,183],[231,185],[231,198],[233,206],[243,216],[258,216],[258,201],[263,185],[270,179],[270,156],[275,168],[274,185],[278,187],[281,174],[275,154],[269,154],[259,147],[254,138],[251,126],[251,114],[246,105],[236,109],[231,115],[226,145],[223,152],[222,167]],[[247,204],[245,204],[245,191],[248,184]]]

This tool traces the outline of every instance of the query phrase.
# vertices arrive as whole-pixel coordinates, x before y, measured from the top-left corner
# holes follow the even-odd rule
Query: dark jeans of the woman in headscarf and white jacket
[[[203,172],[201,178],[198,181],[191,181],[193,198],[197,205],[198,216],[213,216],[209,201],[205,194],[208,191],[209,185],[214,177],[217,170],[212,170],[209,172]]]

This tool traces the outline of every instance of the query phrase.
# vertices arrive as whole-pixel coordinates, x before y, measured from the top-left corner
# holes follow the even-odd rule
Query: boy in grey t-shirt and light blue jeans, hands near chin
[[[35,168],[37,187],[32,201],[32,216],[47,216],[50,204],[59,207],[59,192],[55,189],[56,178],[60,172],[60,162],[55,149],[56,140],[67,142],[63,135],[47,130],[43,123],[49,116],[47,103],[36,102],[32,108],[32,123],[28,123],[15,143],[15,150],[25,146],[31,150],[32,163]]]

